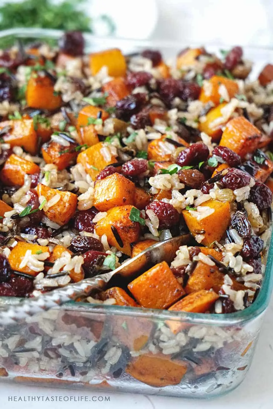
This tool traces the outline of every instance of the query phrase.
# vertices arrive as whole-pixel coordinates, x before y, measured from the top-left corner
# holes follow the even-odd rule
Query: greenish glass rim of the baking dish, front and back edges
[[[8,36],[18,36],[19,38],[28,37],[43,37],[58,39],[63,30],[54,29],[41,29],[41,28],[14,28],[0,31],[0,38]],[[113,44],[119,43],[120,45],[135,46],[135,47],[164,47],[164,48],[176,48],[182,49],[185,46],[183,42],[177,42],[172,40],[138,40],[138,39],[127,39],[118,37],[99,37],[90,33],[83,33],[84,38],[92,45],[92,40],[97,43]],[[194,45],[196,43],[191,43]],[[188,46],[187,44],[186,46]],[[228,46],[228,43],[206,43],[206,46],[219,47]],[[198,44],[200,46],[200,44]],[[253,52],[273,53],[273,49],[267,47],[253,47],[253,46],[243,46],[244,49]],[[155,310],[151,308],[132,308],[127,306],[107,306],[102,304],[89,304],[83,302],[73,302],[70,301],[65,303],[63,306],[59,307],[62,310],[73,310],[73,311],[83,311],[83,312],[95,312],[96,314],[111,314],[111,315],[124,315],[131,317],[145,317],[150,319],[168,319],[174,321],[189,322],[191,324],[202,324],[202,325],[239,325],[244,324],[247,321],[253,320],[258,317],[266,307],[268,306],[269,299],[271,297],[272,287],[273,287],[273,232],[271,233],[266,269],[264,272],[264,279],[262,282],[261,290],[255,300],[255,303],[251,304],[248,308],[237,311],[231,314],[201,314],[196,312],[176,312],[168,310]],[[14,297],[0,297],[0,307],[9,306],[14,304],[20,304],[20,298]]]

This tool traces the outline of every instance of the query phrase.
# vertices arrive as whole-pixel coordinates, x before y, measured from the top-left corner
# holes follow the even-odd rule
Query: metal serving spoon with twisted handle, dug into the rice
[[[39,312],[60,306],[67,301],[88,296],[91,291],[104,290],[110,280],[113,281],[113,279],[122,278],[129,282],[152,265],[160,263],[161,261],[171,263],[178,248],[182,245],[189,244],[190,239],[190,234],[183,234],[158,242],[137,256],[125,261],[120,267],[111,272],[84,279],[79,283],[70,284],[63,288],[58,288],[46,294],[41,294],[39,297],[24,299],[17,305],[9,306],[6,310],[0,311],[0,325],[7,326],[15,324]]]

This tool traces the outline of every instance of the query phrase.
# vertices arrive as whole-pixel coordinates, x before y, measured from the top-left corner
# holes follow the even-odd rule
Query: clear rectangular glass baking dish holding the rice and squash
[[[23,41],[55,42],[61,31],[11,29],[0,47]],[[85,35],[86,51],[119,47],[124,53],[158,48],[165,58],[181,43],[97,38]],[[209,51],[225,47],[209,45]],[[273,50],[244,48],[255,61],[253,78],[273,60]],[[273,238],[264,257],[261,291],[245,310],[226,315],[181,313],[70,302],[24,324],[1,329],[0,379],[45,386],[165,396],[211,398],[231,391],[251,364],[273,278]],[[20,299],[0,297],[0,309]],[[176,328],[175,334],[169,328]]]

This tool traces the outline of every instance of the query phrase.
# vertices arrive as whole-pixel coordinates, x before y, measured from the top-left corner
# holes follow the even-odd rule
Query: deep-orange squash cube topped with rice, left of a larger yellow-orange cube
[[[59,171],[74,164],[78,153],[75,151],[76,144],[63,146],[58,142],[50,141],[42,146],[42,155],[45,163],[53,163]]]

